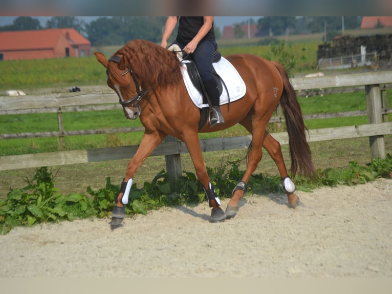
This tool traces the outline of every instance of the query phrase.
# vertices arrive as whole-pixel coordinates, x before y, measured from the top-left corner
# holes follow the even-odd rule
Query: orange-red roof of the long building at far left
[[[90,45],[90,41],[80,35],[75,29],[46,29],[33,31],[0,32],[0,50],[26,50],[54,48],[62,34],[66,37],[69,32],[70,45]]]

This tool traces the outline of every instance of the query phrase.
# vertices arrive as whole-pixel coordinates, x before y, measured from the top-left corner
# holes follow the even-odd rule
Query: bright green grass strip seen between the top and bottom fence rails
[[[364,111],[366,110],[366,98],[364,95],[362,92],[328,94],[307,98],[298,97],[298,100],[301,104],[303,114]],[[387,96],[391,95],[392,90],[388,90]],[[389,114],[389,120],[392,120],[392,114]],[[139,119],[125,119],[121,110],[63,113],[63,121],[64,130],[66,131],[142,127]],[[334,128],[366,123],[366,116],[312,119],[306,121],[308,129]],[[56,114],[0,116],[0,134],[49,131],[58,131]],[[274,132],[273,129],[271,132]],[[230,129],[220,132],[200,134],[199,137],[200,139],[209,139],[244,135],[249,134],[241,125],[234,125]],[[64,148],[60,148],[58,139],[55,137],[7,139],[0,140],[0,156],[136,145],[140,143],[142,136],[142,132],[71,136],[65,137]]]

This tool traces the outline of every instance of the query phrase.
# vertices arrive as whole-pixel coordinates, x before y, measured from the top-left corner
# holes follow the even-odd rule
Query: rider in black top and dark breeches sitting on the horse
[[[174,43],[187,54],[191,54],[199,69],[204,88],[212,104],[210,127],[224,123],[219,107],[219,88],[212,75],[212,60],[216,48],[213,16],[169,16],[166,20],[161,46],[166,48],[167,40],[179,22]]]

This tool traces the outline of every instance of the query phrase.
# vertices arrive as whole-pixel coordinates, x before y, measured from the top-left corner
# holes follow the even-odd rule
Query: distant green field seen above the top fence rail
[[[347,35],[390,33],[388,28],[372,30],[347,30]],[[292,46],[296,59],[293,74],[316,70],[316,52],[322,44],[322,33],[263,37],[251,39],[217,40],[223,55],[233,53],[252,53],[272,58],[271,49],[263,44],[266,39],[285,40]],[[121,48],[118,46],[93,47],[92,52],[100,51],[110,56]],[[38,88],[72,87],[83,85],[105,85],[106,75],[95,56],[84,58],[57,58],[35,60],[8,60],[0,62],[0,95],[2,91],[16,89],[29,93]]]

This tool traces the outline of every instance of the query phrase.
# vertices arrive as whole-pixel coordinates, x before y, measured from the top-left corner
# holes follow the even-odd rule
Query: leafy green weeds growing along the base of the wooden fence
[[[238,168],[236,161],[228,161],[215,169],[208,168],[211,183],[221,198],[231,197],[232,188],[242,179],[245,171]],[[47,167],[36,169],[32,179],[26,179],[26,187],[13,190],[0,201],[0,234],[7,234],[14,226],[32,226],[37,223],[73,221],[75,218],[110,217],[114,198],[120,191],[119,185],[106,178],[105,187],[92,190],[89,186],[86,195],[73,193],[61,195],[55,187],[55,176]],[[373,181],[377,178],[392,177],[392,155],[386,159],[374,159],[366,166],[350,162],[348,169],[318,170],[314,179],[296,176],[297,190],[312,192],[316,187],[355,185]],[[126,214],[147,214],[152,209],[164,206],[193,205],[206,200],[203,188],[193,173],[183,172],[180,185],[172,190],[170,176],[162,170],[151,182],[143,187],[132,185]],[[247,194],[284,193],[278,176],[255,174],[249,181]],[[245,197],[246,195],[245,194]]]

